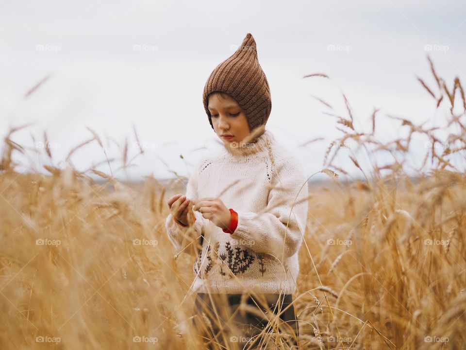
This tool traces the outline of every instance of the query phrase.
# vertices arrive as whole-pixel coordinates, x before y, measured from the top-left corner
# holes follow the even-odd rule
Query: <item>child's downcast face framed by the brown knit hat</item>
[[[213,93],[209,95],[209,111],[212,117],[212,125],[220,140],[229,146],[230,142],[241,142],[249,135],[249,124],[246,114],[236,100],[225,94]],[[232,135],[233,137],[224,137]]]

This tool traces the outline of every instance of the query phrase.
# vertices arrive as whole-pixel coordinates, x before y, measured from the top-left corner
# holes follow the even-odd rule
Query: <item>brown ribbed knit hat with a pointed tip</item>
[[[265,124],[272,109],[266,74],[257,59],[256,42],[248,33],[241,46],[212,71],[205,83],[202,100],[212,124],[207,97],[215,91],[231,95],[243,108],[250,131]]]

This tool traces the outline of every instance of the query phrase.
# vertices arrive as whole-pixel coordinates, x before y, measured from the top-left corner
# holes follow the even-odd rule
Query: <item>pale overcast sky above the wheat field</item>
[[[222,147],[202,90],[247,33],[271,89],[266,128],[308,175],[322,169],[329,142],[341,136],[335,118],[322,113],[331,110],[311,95],[344,115],[341,89],[359,131],[370,130],[372,110],[380,108],[377,135],[389,140],[399,136],[399,122],[387,114],[426,125],[445,121],[416,80],[433,87],[427,54],[450,86],[455,76],[466,81],[465,1],[0,0],[0,16],[1,136],[34,123],[13,140],[40,147],[47,131],[52,163],[62,166],[74,146],[92,137],[86,127],[100,135],[110,158],[121,158],[128,138],[133,157],[134,125],[146,152],[133,161],[133,180],[189,175],[200,157]],[[316,72],[332,81],[303,78]],[[324,140],[298,147],[315,138]],[[414,163],[423,145],[413,151]],[[343,151],[335,164],[359,175],[347,156],[351,146]],[[103,159],[96,142],[71,157],[79,170]],[[23,161],[29,171],[50,164],[44,152]],[[123,178],[115,171],[120,165],[112,168]],[[108,166],[98,169],[109,173]]]

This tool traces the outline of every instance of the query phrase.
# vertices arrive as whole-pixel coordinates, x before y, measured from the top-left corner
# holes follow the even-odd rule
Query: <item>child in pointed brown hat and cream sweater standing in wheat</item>
[[[166,218],[170,242],[196,256],[196,316],[214,342],[258,344],[258,334],[282,322],[278,329],[297,344],[292,294],[307,220],[307,178],[300,162],[265,130],[270,89],[251,34],[210,74],[203,103],[225,147],[197,164],[186,195],[168,199]],[[198,238],[196,251],[192,242]],[[249,305],[247,312],[240,304]],[[233,315],[224,312],[230,306]]]

